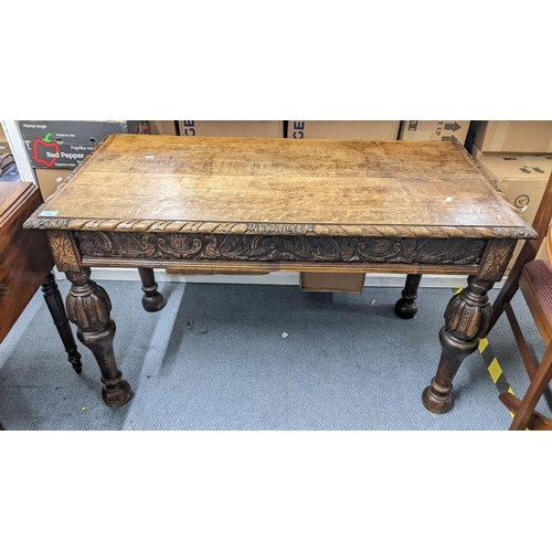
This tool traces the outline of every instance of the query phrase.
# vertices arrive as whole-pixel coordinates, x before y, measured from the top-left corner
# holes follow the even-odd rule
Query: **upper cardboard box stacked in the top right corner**
[[[488,153],[552,152],[552,120],[473,120],[466,148]]]

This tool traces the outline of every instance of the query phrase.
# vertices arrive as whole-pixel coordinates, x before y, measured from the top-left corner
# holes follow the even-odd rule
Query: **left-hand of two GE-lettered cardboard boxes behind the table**
[[[282,120],[179,120],[181,136],[284,138]]]

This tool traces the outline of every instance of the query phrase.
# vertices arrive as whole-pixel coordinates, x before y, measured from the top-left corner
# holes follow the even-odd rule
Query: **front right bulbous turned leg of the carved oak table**
[[[487,291],[493,282],[468,277],[468,287],[455,295],[445,311],[445,326],[440,329],[442,354],[437,374],[422,394],[424,406],[436,414],[453,406],[453,379],[463,360],[471,354],[484,337],[491,317]]]

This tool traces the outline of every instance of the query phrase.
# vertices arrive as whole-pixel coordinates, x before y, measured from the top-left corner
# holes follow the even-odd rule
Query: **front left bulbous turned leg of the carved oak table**
[[[77,337],[96,358],[102,371],[102,399],[108,406],[120,406],[130,400],[130,385],[123,379],[113,352],[115,322],[112,302],[105,289],[91,279],[91,269],[65,273],[72,283],[66,299],[70,320],[78,328]]]

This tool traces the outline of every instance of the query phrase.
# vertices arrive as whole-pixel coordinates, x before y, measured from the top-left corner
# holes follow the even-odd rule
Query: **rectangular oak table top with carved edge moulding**
[[[442,141],[112,135],[26,227],[534,237]]]

